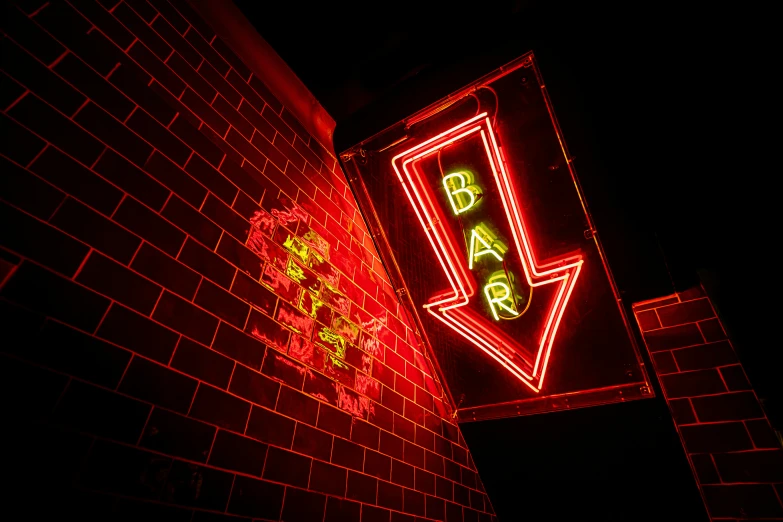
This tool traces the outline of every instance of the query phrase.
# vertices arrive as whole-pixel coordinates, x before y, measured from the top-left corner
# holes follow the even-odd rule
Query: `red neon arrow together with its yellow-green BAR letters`
[[[484,145],[492,179],[497,186],[527,285],[531,288],[556,285],[537,346],[523,346],[493,323],[501,316],[525,320],[509,299],[512,289],[508,276],[496,272],[487,280],[483,290],[479,291],[472,273],[474,261],[480,258],[502,261],[505,245],[495,242],[486,228],[476,227],[471,229],[466,256],[464,245],[454,237],[442,205],[421,170],[423,159],[447,146],[475,137],[479,137]],[[573,253],[555,261],[538,262],[520,212],[519,197],[486,112],[394,156],[392,166],[450,286],[448,290],[432,296],[423,305],[424,308],[487,353],[533,391],[539,392],[544,384],[560,320],[582,269],[582,255]],[[474,208],[477,187],[473,185],[469,172],[445,175],[443,186],[454,215],[464,215]],[[476,299],[485,299],[490,315],[481,314],[468,306],[471,300]]]

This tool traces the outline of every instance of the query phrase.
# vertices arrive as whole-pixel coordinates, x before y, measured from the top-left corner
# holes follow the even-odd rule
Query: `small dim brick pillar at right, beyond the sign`
[[[701,288],[634,305],[712,520],[783,517],[783,451]]]

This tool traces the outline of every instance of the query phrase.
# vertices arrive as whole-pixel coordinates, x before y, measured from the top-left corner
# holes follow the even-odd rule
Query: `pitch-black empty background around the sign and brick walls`
[[[338,152],[534,51],[626,303],[702,283],[781,429],[770,12],[324,2],[294,24],[297,3],[236,3],[337,121]],[[706,520],[660,396],[463,432],[501,521]]]

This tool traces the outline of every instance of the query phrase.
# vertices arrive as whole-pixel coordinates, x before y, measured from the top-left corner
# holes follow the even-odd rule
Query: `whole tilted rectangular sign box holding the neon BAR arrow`
[[[531,53],[340,160],[460,420],[652,396]]]

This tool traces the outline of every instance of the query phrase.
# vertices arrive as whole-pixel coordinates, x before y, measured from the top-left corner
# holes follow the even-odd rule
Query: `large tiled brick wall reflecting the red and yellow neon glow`
[[[494,520],[335,158],[263,77],[183,1],[2,24],[3,509]]]

